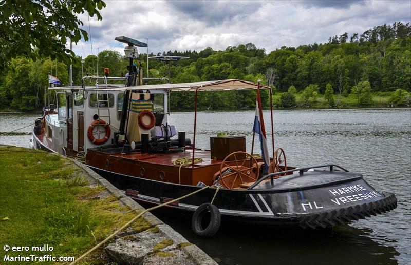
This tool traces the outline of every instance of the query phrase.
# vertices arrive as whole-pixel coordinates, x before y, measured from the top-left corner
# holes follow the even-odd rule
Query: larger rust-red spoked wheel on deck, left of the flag
[[[227,189],[233,189],[241,184],[257,181],[259,170],[257,169],[255,174],[253,165],[258,165],[257,160],[249,153],[239,151],[229,154],[220,166],[220,184]]]

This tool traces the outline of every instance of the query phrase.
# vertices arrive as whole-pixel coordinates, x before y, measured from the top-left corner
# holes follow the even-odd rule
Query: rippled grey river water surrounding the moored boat
[[[39,114],[0,114],[0,132],[29,125]],[[271,148],[270,114],[264,112]],[[169,123],[192,139],[194,113],[172,113]],[[245,135],[251,151],[254,111],[200,112],[196,147],[209,149],[217,132]],[[190,220],[155,214],[220,264],[411,264],[411,110],[284,110],[274,112],[275,148],[287,164],[337,164],[362,173],[381,191],[394,192],[398,208],[332,231],[291,231],[225,225],[216,236],[193,234]],[[28,127],[18,132],[30,132]],[[29,146],[30,136],[0,136],[0,144]],[[258,137],[254,153],[260,153]]]

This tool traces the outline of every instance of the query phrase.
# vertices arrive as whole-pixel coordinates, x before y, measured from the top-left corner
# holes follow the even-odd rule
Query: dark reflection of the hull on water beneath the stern
[[[395,247],[374,240],[370,228],[303,230],[225,223],[214,237],[203,238],[188,229],[189,217],[177,221],[167,211],[155,215],[220,264],[398,264],[400,254]]]

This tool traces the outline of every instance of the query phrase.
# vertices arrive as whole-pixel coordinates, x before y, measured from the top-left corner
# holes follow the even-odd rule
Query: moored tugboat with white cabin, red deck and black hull
[[[268,89],[273,130],[270,87],[238,79],[172,84],[143,78],[134,60],[145,44],[116,39],[127,43],[128,75],[110,77],[107,69],[104,76],[83,77],[81,87],[49,88],[57,106],[49,104],[36,120],[36,148],[85,157],[89,168],[138,202],[172,201],[167,207],[192,215],[193,230],[201,236],[214,235],[221,222],[325,229],[397,207],[393,193],[377,191],[341,166],[287,165],[284,149],[274,148],[273,131],[270,157],[259,101],[260,90]],[[86,86],[90,80],[94,85]],[[153,81],[160,84],[143,85]],[[198,92],[238,89],[257,91],[250,131],[258,134],[262,156],[254,154],[254,136],[251,153],[244,135],[224,133],[210,136],[210,150],[199,149]],[[192,139],[167,121],[171,91],[195,93]]]

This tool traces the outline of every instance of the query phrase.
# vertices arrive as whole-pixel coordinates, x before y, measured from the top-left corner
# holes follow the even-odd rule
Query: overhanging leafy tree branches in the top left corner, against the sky
[[[0,2],[0,74],[11,58],[26,56],[32,59],[51,56],[70,64],[74,53],[66,42],[78,42],[87,32],[78,14],[97,15],[105,7],[102,0],[15,0]]]

